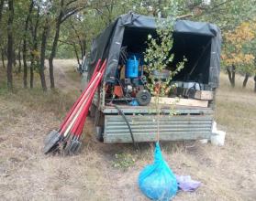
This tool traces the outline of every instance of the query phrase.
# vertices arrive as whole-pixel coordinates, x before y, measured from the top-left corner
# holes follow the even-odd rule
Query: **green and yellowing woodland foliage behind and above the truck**
[[[224,36],[223,65],[234,64],[240,73],[255,74],[256,0],[246,4],[242,0],[13,0],[12,22],[8,3],[0,0],[0,56],[3,67],[7,58],[12,60],[10,74],[22,72],[25,88],[28,83],[33,88],[34,73],[44,79],[45,59],[49,59],[50,86],[54,88],[53,59],[76,58],[80,63],[93,38],[117,16],[129,11],[217,24]],[[8,22],[12,25],[7,26]],[[15,28],[8,29],[11,26]],[[11,35],[12,44],[8,43]],[[10,67],[14,70],[10,71]],[[8,83],[12,86],[11,75]],[[42,89],[46,89],[46,82],[41,83],[45,83]]]

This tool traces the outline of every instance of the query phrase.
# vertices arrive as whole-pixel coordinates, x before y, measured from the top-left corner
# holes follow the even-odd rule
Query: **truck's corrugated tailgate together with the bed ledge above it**
[[[135,142],[155,142],[157,116],[152,105],[118,105],[128,119]],[[128,124],[113,106],[101,109],[105,114],[104,143],[131,143]],[[209,139],[211,136],[213,110],[211,108],[178,106],[170,115],[170,105],[161,105],[161,141]]]

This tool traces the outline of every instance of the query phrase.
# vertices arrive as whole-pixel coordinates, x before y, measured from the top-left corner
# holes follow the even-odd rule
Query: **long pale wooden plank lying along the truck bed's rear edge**
[[[151,103],[156,103],[156,97],[151,98]],[[184,106],[191,106],[191,107],[208,107],[208,100],[192,100],[192,99],[178,99],[178,98],[167,98],[167,97],[160,97],[159,98],[160,104],[168,104],[168,105],[184,105]]]

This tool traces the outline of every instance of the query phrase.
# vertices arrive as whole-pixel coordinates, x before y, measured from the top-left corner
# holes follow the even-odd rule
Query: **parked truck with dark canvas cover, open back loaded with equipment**
[[[124,60],[128,62],[134,57],[134,61],[141,62],[141,66],[147,68],[145,62],[143,64],[143,53],[147,48],[148,36],[157,36],[157,26],[157,20],[152,16],[134,13],[118,16],[95,37],[90,55],[83,61],[84,88],[92,77],[98,59],[107,59],[104,79],[90,109],[96,137],[104,143],[156,141],[157,111],[152,107],[153,98],[143,87],[147,74],[142,75],[143,69],[140,69],[139,79],[130,79],[127,78],[127,71],[124,73],[120,66],[124,65]],[[177,87],[173,94],[178,97],[175,102],[181,103],[173,103],[173,99],[176,100],[173,97],[162,99],[160,140],[210,139],[220,72],[220,30],[210,23],[179,19],[173,25],[172,37],[173,62],[184,57],[186,62],[184,69],[173,79]],[[110,88],[112,90],[109,92]],[[122,93],[126,95],[122,96]],[[133,104],[133,100],[136,100],[136,104]],[[171,106],[175,111],[172,115]]]

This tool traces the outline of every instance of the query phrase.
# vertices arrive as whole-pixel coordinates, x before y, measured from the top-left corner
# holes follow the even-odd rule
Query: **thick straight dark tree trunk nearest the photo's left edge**
[[[13,21],[14,21],[14,2],[8,0],[8,24],[7,24],[7,87],[13,90]]]

